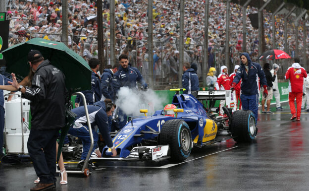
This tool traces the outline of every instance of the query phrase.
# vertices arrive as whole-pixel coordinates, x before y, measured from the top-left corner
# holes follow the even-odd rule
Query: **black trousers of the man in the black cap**
[[[27,147],[40,183],[55,183],[56,140],[59,129],[31,129]]]

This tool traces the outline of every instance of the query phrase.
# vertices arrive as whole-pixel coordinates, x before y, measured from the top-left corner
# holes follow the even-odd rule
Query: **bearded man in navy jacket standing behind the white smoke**
[[[120,66],[118,68],[118,71],[114,74],[112,83],[115,96],[117,96],[120,87],[127,86],[130,89],[137,90],[137,82],[142,84],[142,88],[147,88],[147,83],[143,79],[140,71],[136,67],[131,67],[129,65],[127,55],[120,55],[119,62]],[[120,120],[118,128],[121,129],[127,123],[127,116],[120,109],[118,115]]]

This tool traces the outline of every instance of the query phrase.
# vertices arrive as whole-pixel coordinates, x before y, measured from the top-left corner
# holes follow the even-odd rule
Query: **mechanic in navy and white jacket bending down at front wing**
[[[94,147],[92,152],[95,150],[99,139],[99,135],[95,130],[95,126],[98,126],[102,134],[102,137],[105,140],[106,145],[112,151],[111,156],[117,155],[117,151],[113,145],[113,142],[109,134],[108,119],[107,119],[108,116],[112,115],[113,111],[115,110],[115,107],[116,105],[110,99],[105,99],[104,101],[98,101],[93,105],[87,106],[89,119],[92,127],[92,134],[94,138]],[[75,118],[74,125],[69,128],[68,133],[70,133],[73,136],[77,136],[83,142],[83,153],[81,156],[82,160],[79,162],[80,165],[83,165],[84,160],[86,159],[91,146],[86,112],[84,107],[74,108],[72,109],[72,112],[75,113],[77,116]]]

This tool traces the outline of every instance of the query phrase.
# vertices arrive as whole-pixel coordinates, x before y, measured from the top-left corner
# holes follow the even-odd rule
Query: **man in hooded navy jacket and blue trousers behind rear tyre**
[[[242,64],[236,72],[231,90],[235,89],[236,84],[242,80],[240,89],[243,110],[251,110],[256,118],[257,124],[257,110],[258,110],[258,78],[264,87],[263,96],[267,97],[267,82],[264,71],[258,63],[251,61],[248,53],[241,53],[240,60]]]

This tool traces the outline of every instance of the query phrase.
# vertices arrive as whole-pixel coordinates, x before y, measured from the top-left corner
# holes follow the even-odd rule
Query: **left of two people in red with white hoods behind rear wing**
[[[231,80],[227,74],[227,67],[225,65],[221,66],[221,73],[218,76],[216,89],[217,90],[229,90],[231,88]],[[220,101],[220,112],[219,115],[223,116],[224,111],[222,107],[225,105],[225,100]]]

